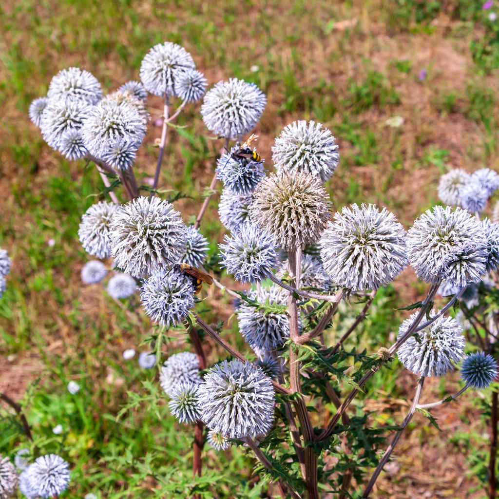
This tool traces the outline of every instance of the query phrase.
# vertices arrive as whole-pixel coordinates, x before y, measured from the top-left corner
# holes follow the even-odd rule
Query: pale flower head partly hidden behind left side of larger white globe
[[[115,203],[100,201],[93,204],[81,217],[78,237],[88,254],[97,258],[107,258],[111,254],[109,224],[117,209]]]

